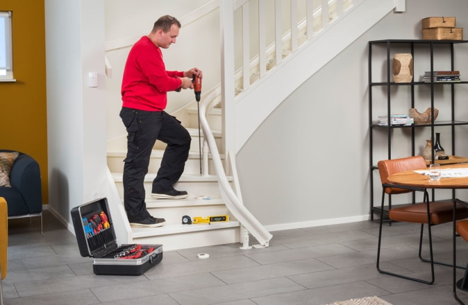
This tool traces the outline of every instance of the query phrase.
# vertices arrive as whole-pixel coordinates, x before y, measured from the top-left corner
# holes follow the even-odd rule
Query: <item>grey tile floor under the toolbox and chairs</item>
[[[5,304],[253,305],[327,304],[377,295],[394,305],[458,304],[452,269],[435,266],[435,284],[419,284],[376,270],[378,223],[362,221],[272,232],[270,246],[241,250],[239,244],[164,252],[141,276],[94,275],[75,236],[44,211],[39,220],[9,222]],[[417,259],[419,225],[383,227],[382,267],[428,277]],[[451,224],[433,227],[435,258],[451,261]],[[209,259],[197,254],[208,253]],[[458,238],[460,265],[468,243]],[[463,270],[458,271],[458,278]],[[468,295],[458,295],[468,304]]]

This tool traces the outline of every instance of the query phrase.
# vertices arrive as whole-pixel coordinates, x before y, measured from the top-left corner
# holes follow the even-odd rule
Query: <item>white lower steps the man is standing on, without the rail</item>
[[[185,164],[185,171],[181,179],[174,185],[178,190],[189,193],[189,197],[182,200],[161,200],[151,198],[151,184],[160,166],[165,143],[157,141],[149,165],[149,173],[145,177],[144,187],[147,193],[147,209],[157,218],[165,218],[166,224],[158,228],[131,228],[131,234],[125,243],[158,243],[164,245],[165,250],[175,250],[223,243],[237,243],[240,241],[240,223],[226,208],[219,191],[217,176],[213,173],[200,173],[201,160],[199,143],[203,146],[203,132],[200,131],[199,142],[197,105],[187,107],[181,114],[185,117],[185,128],[192,136],[189,159]],[[177,116],[179,119],[179,116]],[[221,112],[214,108],[208,114],[210,125],[221,127]],[[215,139],[221,145],[220,130],[213,130]],[[124,198],[122,186],[122,172],[126,156],[126,139],[116,139],[110,143],[108,149],[108,168],[115,182],[119,198]],[[207,151],[207,148],[205,148]],[[224,159],[224,155],[221,155]],[[214,168],[212,159],[208,155],[208,168]],[[228,177],[234,182],[234,177]],[[183,225],[183,216],[207,217],[228,215],[228,222],[211,224]]]

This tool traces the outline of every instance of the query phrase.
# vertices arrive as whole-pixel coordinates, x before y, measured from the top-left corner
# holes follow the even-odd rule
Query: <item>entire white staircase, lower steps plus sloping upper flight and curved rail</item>
[[[373,24],[392,9],[390,3],[392,1],[393,0],[359,0],[356,1],[356,3],[359,3],[362,8],[366,8],[366,10],[370,10],[375,14],[372,15],[371,18],[368,18],[371,19],[371,24]],[[246,1],[241,2],[244,3]],[[326,1],[324,0],[324,2]],[[340,1],[340,3],[342,3],[342,1]],[[385,8],[383,8],[383,3],[385,3]],[[342,8],[343,4],[341,4],[340,7]],[[346,15],[346,13],[343,15]],[[356,24],[356,20],[362,21],[362,16],[359,17],[356,12],[353,13],[353,15],[348,15],[353,19],[349,21],[350,24]],[[362,15],[365,15],[365,13]],[[371,24],[365,26],[360,22],[356,29],[365,30],[369,28]],[[337,33],[340,33],[339,28],[346,27],[349,28],[346,24],[331,24],[331,28],[334,28],[330,30],[331,37],[334,40],[333,45],[327,44],[324,39],[324,33],[321,33],[319,35],[319,37],[321,37],[320,40],[316,37],[316,41],[314,41],[311,37],[308,37],[310,41],[304,43],[302,49],[296,52],[296,54],[294,54],[294,50],[292,56],[287,52],[286,55],[288,55],[289,61],[284,60],[285,53],[283,53],[281,64],[279,64],[279,66],[273,66],[271,69],[271,72],[273,72],[271,73],[272,76],[262,78],[262,71],[260,71],[260,73],[251,74],[251,83],[257,78],[260,78],[260,81],[258,81],[256,85],[247,84],[243,78],[246,78],[249,73],[242,73],[242,71],[237,73],[241,74],[241,76],[235,79],[225,79],[225,82],[231,82],[231,85],[225,85],[225,88],[226,86],[231,88],[240,87],[239,90],[235,90],[235,94],[239,94],[235,101],[233,101],[233,96],[226,96],[226,89],[224,89],[222,94],[221,90],[217,88],[202,89],[202,102],[204,102],[206,96],[213,101],[212,105],[218,104],[224,107],[226,103],[234,102],[235,106],[228,104],[229,107],[226,108],[229,108],[230,111],[228,112],[228,110],[225,110],[226,114],[224,115],[231,116],[227,118],[227,120],[235,122],[235,128],[237,128],[234,134],[234,137],[237,139],[235,151],[238,151],[238,149],[242,147],[243,143],[248,139],[249,134],[260,125],[262,120],[265,119],[268,113],[274,110],[278,103],[281,103],[284,96],[290,94],[301,82],[306,80],[307,76],[310,77],[311,73],[314,73],[319,67],[322,67],[323,64],[326,63],[321,62],[321,60],[312,60],[312,62],[310,62],[310,60],[307,59],[308,63],[310,63],[310,66],[308,66],[310,67],[310,71],[304,71],[304,59],[310,56],[306,53],[317,53],[317,51],[312,49],[312,44],[314,44],[314,42],[320,49],[331,49],[331,51],[324,50],[317,53],[318,55],[322,55],[323,58],[326,58],[326,60],[331,60],[331,58],[340,51],[338,50],[339,48],[341,48],[341,50],[344,49],[353,39],[356,39],[362,33],[352,33],[352,35],[351,33],[345,33],[343,35],[346,36],[346,39],[340,39],[339,35],[337,35]],[[323,32],[324,30],[322,29],[321,31]],[[349,36],[353,36],[354,38]],[[281,44],[285,43],[287,44],[287,42],[281,42]],[[325,55],[324,52],[328,53]],[[267,58],[271,58],[271,54],[267,55]],[[257,67],[260,62],[262,62],[262,59],[257,60],[251,71],[261,70]],[[288,74],[285,75],[284,72],[288,70],[286,68],[288,66],[291,66],[294,71],[288,72]],[[291,78],[290,75],[294,75],[294,78]],[[281,86],[277,84],[278,81],[283,82]],[[240,85],[240,82],[243,82],[243,85]],[[287,85],[285,85],[286,83]],[[281,88],[282,90],[278,92],[278,90],[267,89],[267,87]],[[265,102],[268,101],[270,104],[265,105]],[[187,191],[189,197],[184,200],[155,200],[151,198],[151,182],[153,178],[156,177],[156,172],[158,171],[162,153],[165,148],[164,143],[156,143],[153,153],[151,154],[149,173],[144,182],[147,192],[146,202],[147,209],[151,215],[157,218],[165,218],[166,225],[159,228],[131,228],[124,214],[123,204],[118,207],[111,207],[112,215],[118,214],[117,217],[113,217],[113,220],[117,223],[115,227],[119,228],[119,232],[117,232],[117,237],[119,238],[119,236],[121,236],[119,243],[158,243],[162,244],[165,250],[177,250],[224,243],[241,243],[242,247],[246,248],[249,247],[250,233],[257,239],[260,246],[268,246],[271,234],[249,214],[249,211],[246,211],[246,209],[242,207],[242,194],[240,192],[237,176],[235,175],[235,162],[233,160],[233,158],[235,158],[235,153],[218,151],[218,148],[224,148],[226,146],[226,139],[222,138],[223,134],[227,132],[230,137],[233,137],[232,128],[234,127],[226,125],[226,128],[230,128],[230,130],[223,131],[223,121],[226,120],[226,117],[222,117],[222,110],[216,107],[208,107],[207,109],[206,122],[204,122],[205,125],[202,126],[202,130],[205,128],[206,134],[208,135],[209,132],[209,135],[213,136],[210,149],[208,149],[208,145],[206,141],[204,141],[203,131],[200,131],[201,138],[199,138],[197,102],[193,102],[173,114],[183,122],[183,125],[192,135],[192,145],[189,159],[185,165],[185,171],[179,182],[174,186],[178,190]],[[250,109],[250,111],[247,109]],[[203,107],[203,111],[204,110],[205,107]],[[232,117],[234,115],[233,112],[237,114],[237,118]],[[255,112],[255,115],[253,115],[253,112]],[[243,119],[239,115],[241,113]],[[202,121],[203,120],[202,118]],[[208,128],[208,130],[206,128]],[[201,143],[203,147],[202,152],[200,152],[199,143]],[[216,149],[216,151],[212,151],[213,149]],[[208,151],[212,151],[213,155],[219,157],[222,162],[213,162],[212,156]],[[203,164],[200,162],[201,153],[203,155]],[[115,193],[114,198],[112,198],[113,200],[110,200],[110,202],[122,202],[122,171],[125,155],[126,135],[122,136],[121,139],[114,139],[108,143],[108,168],[110,176],[112,177],[112,185],[110,185],[110,187],[114,190],[113,193]],[[219,164],[222,164],[222,169],[219,168]],[[223,171],[223,173],[220,174],[220,171]],[[227,176],[223,177],[224,173],[226,173]],[[226,186],[226,184],[228,184],[228,186]],[[206,217],[217,215],[228,215],[229,221],[211,223],[210,225],[182,224],[183,216],[190,216],[190,218],[193,219],[197,216]],[[238,221],[235,216],[242,221]],[[124,238],[122,238],[122,236],[124,236]]]

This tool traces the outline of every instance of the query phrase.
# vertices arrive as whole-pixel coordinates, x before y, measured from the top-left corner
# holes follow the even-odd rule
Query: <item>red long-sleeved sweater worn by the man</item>
[[[166,71],[162,53],[147,36],[128,53],[122,78],[122,107],[165,110],[167,92],[181,87],[183,71]]]

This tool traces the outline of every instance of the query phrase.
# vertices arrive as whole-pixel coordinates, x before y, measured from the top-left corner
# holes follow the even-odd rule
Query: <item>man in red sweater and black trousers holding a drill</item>
[[[193,68],[188,71],[167,71],[162,49],[176,43],[180,22],[162,16],[147,36],[138,40],[128,53],[122,78],[122,110],[120,117],[128,132],[127,155],[124,160],[124,206],[132,227],[160,227],[164,218],[149,214],[145,202],[144,176],[156,140],[167,143],[158,175],[153,180],[153,198],[187,198],[186,191],[177,191],[174,184],[181,177],[188,158],[191,137],[174,116],[164,110],[167,92],[193,89],[192,77],[202,76]]]

